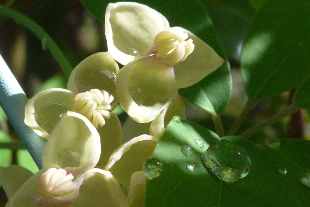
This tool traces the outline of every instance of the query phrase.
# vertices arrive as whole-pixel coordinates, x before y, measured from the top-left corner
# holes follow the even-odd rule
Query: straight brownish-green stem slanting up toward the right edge
[[[299,108],[293,104],[289,105],[288,107],[282,109],[275,115],[265,119],[264,121],[256,124],[255,126],[251,127],[250,129],[242,132],[239,134],[241,137],[249,137],[250,135],[258,132],[259,130],[262,130],[265,126],[268,126],[270,124],[276,123],[277,121],[289,116],[290,114],[296,112]]]

